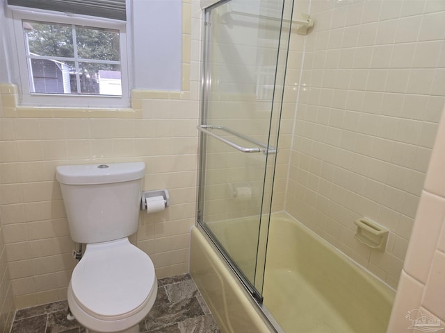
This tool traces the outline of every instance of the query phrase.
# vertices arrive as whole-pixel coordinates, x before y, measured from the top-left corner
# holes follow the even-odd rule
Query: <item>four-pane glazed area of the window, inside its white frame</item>
[[[122,96],[119,31],[25,20],[22,24],[31,92]]]

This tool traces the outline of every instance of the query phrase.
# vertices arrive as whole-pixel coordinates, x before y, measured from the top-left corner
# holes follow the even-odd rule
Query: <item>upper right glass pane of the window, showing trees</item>
[[[119,31],[76,26],[79,58],[120,60]]]

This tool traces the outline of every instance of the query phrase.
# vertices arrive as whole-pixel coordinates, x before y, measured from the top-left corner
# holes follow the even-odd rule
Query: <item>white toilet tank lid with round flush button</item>
[[[144,162],[60,165],[56,178],[67,185],[95,185],[111,182],[128,182],[143,178]]]

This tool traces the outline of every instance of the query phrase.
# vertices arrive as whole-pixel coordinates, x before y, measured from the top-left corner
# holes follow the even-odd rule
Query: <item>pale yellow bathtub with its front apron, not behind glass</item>
[[[197,227],[191,275],[222,332],[385,333],[395,292],[285,213],[270,219],[257,305]],[[273,317],[268,321],[264,313]]]

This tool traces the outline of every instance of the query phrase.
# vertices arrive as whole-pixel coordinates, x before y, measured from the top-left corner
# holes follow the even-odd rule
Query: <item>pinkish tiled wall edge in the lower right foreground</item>
[[[444,116],[445,110],[426,174],[388,332],[425,332],[427,329],[439,332],[445,327]],[[425,321],[416,321],[422,317]],[[424,323],[435,325],[428,327],[422,325]]]

